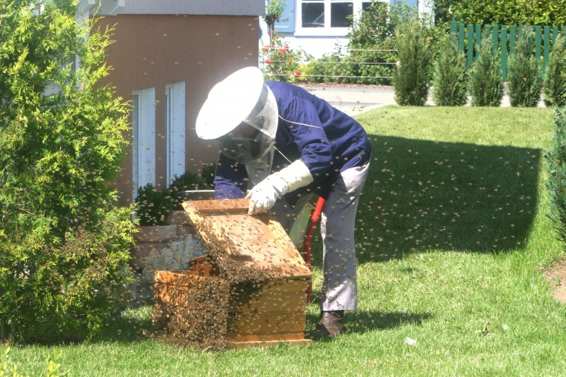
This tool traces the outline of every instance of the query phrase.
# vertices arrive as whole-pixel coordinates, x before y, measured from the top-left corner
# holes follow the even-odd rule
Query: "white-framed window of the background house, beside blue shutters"
[[[353,17],[366,9],[371,0],[299,0],[297,27],[306,34],[346,35]]]

